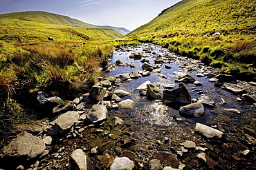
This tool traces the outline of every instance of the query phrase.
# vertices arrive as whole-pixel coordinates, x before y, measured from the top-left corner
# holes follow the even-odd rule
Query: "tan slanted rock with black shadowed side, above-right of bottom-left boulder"
[[[68,111],[58,116],[51,123],[53,127],[47,131],[47,134],[50,136],[65,134],[79,120],[80,113],[83,113],[83,111]]]

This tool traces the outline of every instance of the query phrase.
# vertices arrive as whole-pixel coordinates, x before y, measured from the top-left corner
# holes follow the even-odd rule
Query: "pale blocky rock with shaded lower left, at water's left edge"
[[[107,118],[107,108],[104,105],[93,105],[92,111],[86,115],[91,123],[97,123]]]

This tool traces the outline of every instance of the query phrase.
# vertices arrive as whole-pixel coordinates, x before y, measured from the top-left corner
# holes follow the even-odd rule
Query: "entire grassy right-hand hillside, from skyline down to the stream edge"
[[[255,0],[183,0],[127,34],[256,80]],[[217,35],[214,35],[217,33]]]

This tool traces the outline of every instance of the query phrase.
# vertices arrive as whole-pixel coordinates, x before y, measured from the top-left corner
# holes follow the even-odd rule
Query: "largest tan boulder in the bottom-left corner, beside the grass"
[[[25,159],[36,158],[44,153],[44,140],[24,131],[17,135],[1,151],[1,158]]]

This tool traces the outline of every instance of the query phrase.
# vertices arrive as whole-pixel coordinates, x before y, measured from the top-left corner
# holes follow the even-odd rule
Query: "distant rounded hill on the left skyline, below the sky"
[[[129,30],[125,28],[92,25],[89,23],[84,23],[77,19],[72,19],[71,17],[43,11],[12,12],[8,14],[0,14],[0,21],[3,20],[28,21],[34,23],[62,25],[77,28],[108,28],[116,30],[122,35],[129,33]]]

